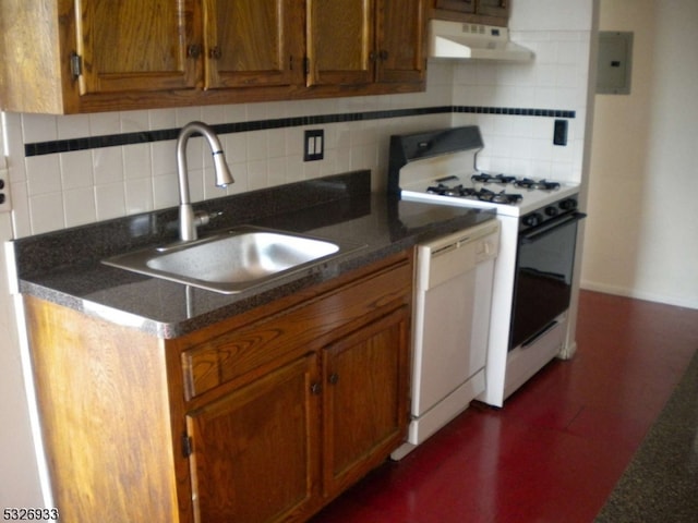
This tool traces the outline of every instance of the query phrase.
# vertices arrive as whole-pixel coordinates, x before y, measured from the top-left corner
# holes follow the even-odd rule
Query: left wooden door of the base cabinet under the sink
[[[195,521],[277,521],[316,501],[315,355],[190,412]]]

